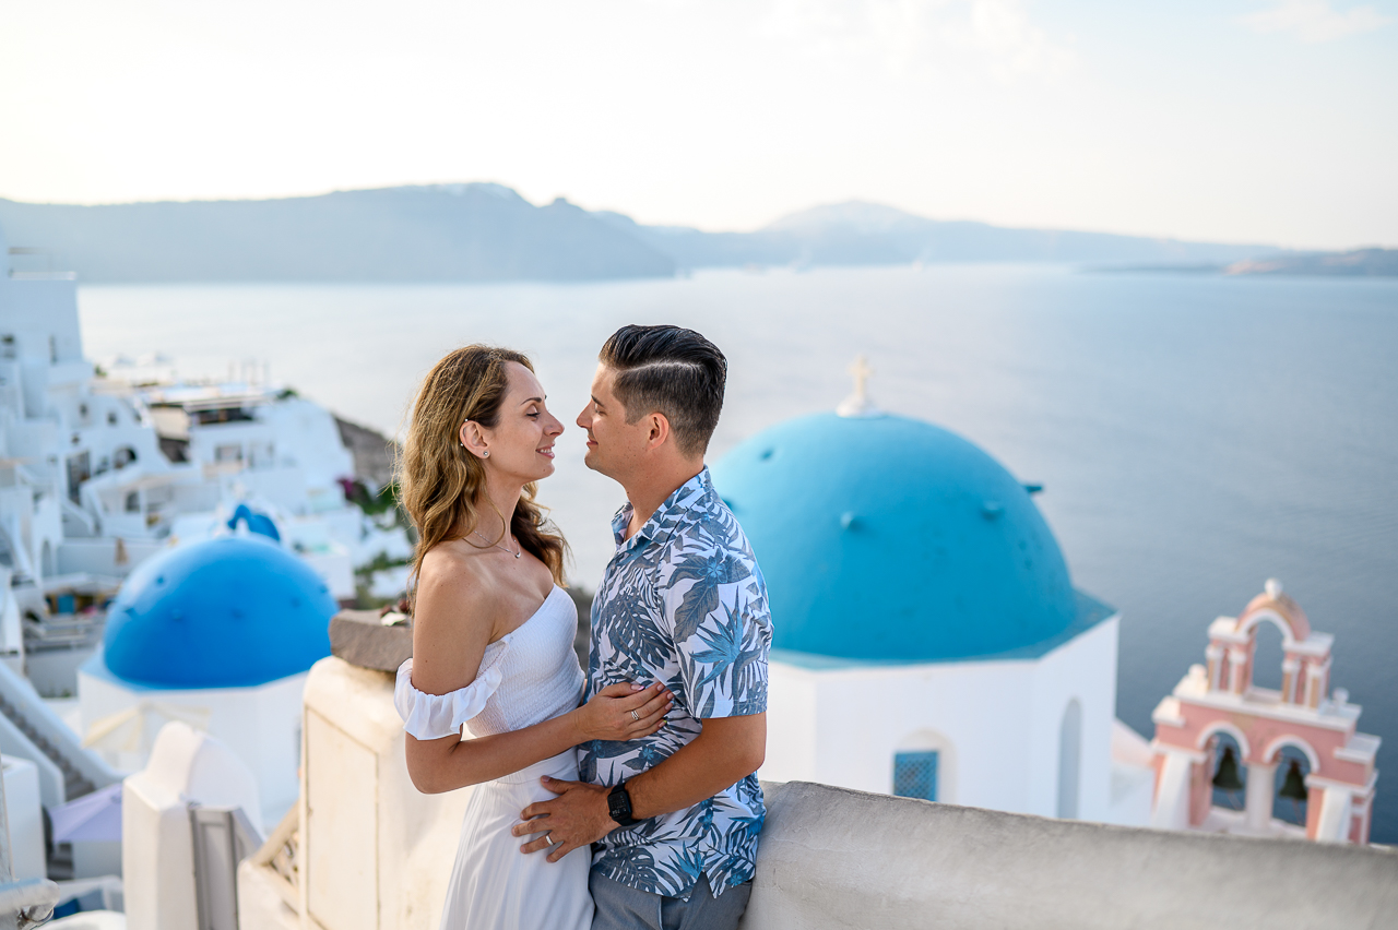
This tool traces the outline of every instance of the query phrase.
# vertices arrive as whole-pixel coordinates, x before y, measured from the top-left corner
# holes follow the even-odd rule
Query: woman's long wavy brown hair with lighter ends
[[[410,584],[414,592],[422,559],[432,547],[474,531],[482,507],[496,510],[485,494],[485,462],[461,445],[459,433],[466,420],[487,429],[499,423],[510,362],[534,370],[527,356],[510,349],[456,349],[432,367],[412,402],[412,423],[398,459],[398,487],[403,508],[418,531]],[[562,585],[568,543],[545,518],[545,508],[534,503],[535,492],[534,482],[524,486],[510,532]]]

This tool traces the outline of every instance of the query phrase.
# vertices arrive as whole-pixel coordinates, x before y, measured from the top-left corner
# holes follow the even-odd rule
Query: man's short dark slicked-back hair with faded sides
[[[713,342],[682,327],[622,327],[597,355],[617,371],[617,399],[626,422],[660,412],[684,455],[702,455],[719,426],[728,359]]]

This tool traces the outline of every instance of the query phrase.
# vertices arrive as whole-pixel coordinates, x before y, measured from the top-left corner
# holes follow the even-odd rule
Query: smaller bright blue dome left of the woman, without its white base
[[[337,610],[310,567],[261,536],[179,546],[141,563],[106,616],[106,667],[161,688],[263,684],[330,655]]]

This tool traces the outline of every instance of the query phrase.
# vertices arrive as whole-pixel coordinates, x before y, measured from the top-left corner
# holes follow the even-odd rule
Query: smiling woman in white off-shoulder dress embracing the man
[[[443,930],[587,930],[589,852],[526,856],[510,827],[552,797],[541,776],[577,779],[575,746],[654,733],[671,705],[658,684],[618,684],[579,707],[565,543],[534,503],[562,431],[528,359],[507,349],[452,352],[412,409],[400,480],[418,528],[417,593],[394,702],[418,790],[477,785]]]

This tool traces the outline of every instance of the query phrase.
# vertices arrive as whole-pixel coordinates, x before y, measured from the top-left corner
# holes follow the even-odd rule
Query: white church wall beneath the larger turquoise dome
[[[896,751],[938,748],[938,800],[1054,815],[1060,726],[1076,698],[1078,817],[1107,820],[1117,623],[1032,660],[829,670],[773,660],[761,775],[888,793]]]

